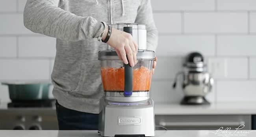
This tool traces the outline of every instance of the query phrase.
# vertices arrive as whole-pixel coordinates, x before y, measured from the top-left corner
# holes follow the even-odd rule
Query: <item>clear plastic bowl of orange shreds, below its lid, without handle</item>
[[[139,59],[133,67],[133,92],[149,91],[153,59]],[[105,92],[124,92],[124,64],[120,60],[101,60],[101,79]]]

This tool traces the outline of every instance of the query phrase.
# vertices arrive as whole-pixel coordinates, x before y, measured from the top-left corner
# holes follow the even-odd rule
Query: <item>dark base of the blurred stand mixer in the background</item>
[[[210,104],[203,96],[185,96],[180,102],[182,105],[203,105]]]

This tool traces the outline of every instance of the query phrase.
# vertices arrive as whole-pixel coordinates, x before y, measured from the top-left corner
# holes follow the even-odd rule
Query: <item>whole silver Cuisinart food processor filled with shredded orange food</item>
[[[137,64],[125,65],[115,50],[98,52],[104,97],[100,99],[98,132],[104,137],[154,136],[154,101],[149,97],[154,51],[147,50],[146,25],[111,25],[133,35],[139,44]],[[140,35],[145,36],[140,36]],[[140,38],[143,38],[140,39]]]

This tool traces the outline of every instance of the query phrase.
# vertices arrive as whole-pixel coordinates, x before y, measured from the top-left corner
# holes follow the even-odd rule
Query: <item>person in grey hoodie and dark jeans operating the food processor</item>
[[[147,24],[147,48],[156,50],[158,31],[150,0],[27,0],[24,25],[56,38],[52,72],[59,130],[97,130],[103,96],[98,51],[105,50],[113,23]],[[106,41],[105,41],[106,42]],[[107,43],[134,66],[138,45],[126,32],[112,29]],[[127,58],[126,58],[127,55]],[[154,67],[156,66],[156,59]]]

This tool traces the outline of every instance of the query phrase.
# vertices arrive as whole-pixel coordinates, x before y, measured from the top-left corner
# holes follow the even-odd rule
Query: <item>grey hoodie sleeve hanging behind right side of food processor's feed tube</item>
[[[158,31],[154,23],[151,0],[141,0],[135,23],[147,24],[147,48],[156,51]]]

